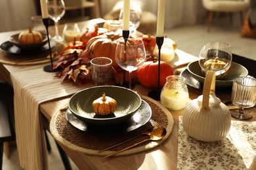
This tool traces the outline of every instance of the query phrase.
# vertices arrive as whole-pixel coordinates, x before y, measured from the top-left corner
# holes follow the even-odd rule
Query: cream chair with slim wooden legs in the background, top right
[[[249,9],[250,0],[202,0],[202,4],[208,13],[207,31],[210,31],[215,12],[228,12],[231,23],[232,13],[239,12],[241,25],[243,25],[243,12]]]

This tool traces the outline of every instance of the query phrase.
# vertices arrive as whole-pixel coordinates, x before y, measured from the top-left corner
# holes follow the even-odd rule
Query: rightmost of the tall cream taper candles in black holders
[[[165,25],[165,0],[158,0],[158,24],[156,27],[156,37],[163,37]]]

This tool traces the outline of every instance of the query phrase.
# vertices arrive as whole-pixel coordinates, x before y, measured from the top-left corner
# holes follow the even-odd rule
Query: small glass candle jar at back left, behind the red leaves
[[[76,23],[65,24],[62,35],[64,42],[79,41],[80,29]]]

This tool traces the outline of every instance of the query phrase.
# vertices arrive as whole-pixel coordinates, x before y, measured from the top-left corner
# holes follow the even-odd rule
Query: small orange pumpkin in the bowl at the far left
[[[18,41],[26,44],[34,44],[42,41],[42,35],[39,31],[32,31],[32,27],[28,27],[28,31],[24,31],[18,35]]]

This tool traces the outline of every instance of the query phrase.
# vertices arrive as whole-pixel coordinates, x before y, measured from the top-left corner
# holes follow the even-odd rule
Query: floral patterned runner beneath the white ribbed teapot
[[[233,121],[222,140],[205,143],[189,137],[179,116],[177,169],[249,169],[256,156],[256,122]]]

